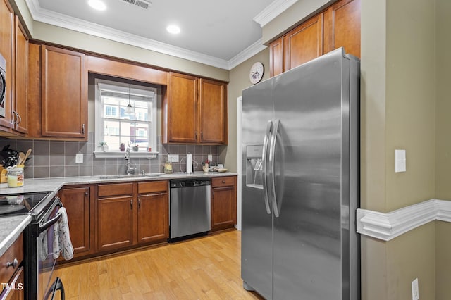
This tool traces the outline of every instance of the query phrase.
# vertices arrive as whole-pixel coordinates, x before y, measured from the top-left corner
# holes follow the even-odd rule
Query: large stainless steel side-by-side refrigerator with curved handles
[[[360,298],[359,60],[344,49],[242,93],[243,286]]]

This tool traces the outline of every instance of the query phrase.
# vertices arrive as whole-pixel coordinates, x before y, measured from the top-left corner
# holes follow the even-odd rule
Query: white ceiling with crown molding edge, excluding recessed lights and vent
[[[95,11],[87,0],[25,0],[39,22],[228,70],[265,48],[259,16],[278,15],[288,2],[143,0],[151,4],[146,9],[130,1],[104,0],[106,10]],[[180,26],[180,34],[168,33],[170,24]]]

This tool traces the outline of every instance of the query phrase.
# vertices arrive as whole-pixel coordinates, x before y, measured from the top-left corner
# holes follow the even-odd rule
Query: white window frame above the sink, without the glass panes
[[[101,105],[101,89],[110,89],[117,92],[122,92],[128,94],[129,89],[131,94],[153,94],[152,101],[149,102],[150,106],[150,114],[148,115],[150,125],[149,130],[149,146],[152,148],[152,152],[146,150],[141,151],[130,151],[130,156],[133,157],[142,157],[142,158],[156,158],[158,151],[157,150],[157,127],[158,127],[158,118],[157,118],[157,103],[158,103],[158,91],[155,87],[145,87],[142,85],[131,85],[126,82],[116,82],[113,80],[104,80],[96,78],[94,80],[94,89],[95,89],[95,100],[94,100],[94,128],[95,128],[95,137],[94,137],[94,156],[96,158],[122,158],[124,156],[124,152],[117,149],[111,148],[109,146],[108,151],[100,151],[99,143],[103,140],[102,133],[103,130],[101,128],[102,118],[104,118],[104,113],[102,111]],[[149,95],[150,96],[150,95]],[[120,114],[120,112],[118,112]],[[142,121],[138,121],[138,123],[142,123]],[[127,147],[128,145],[125,145]],[[132,145],[130,145],[132,146]],[[116,147],[115,147],[116,148]]]

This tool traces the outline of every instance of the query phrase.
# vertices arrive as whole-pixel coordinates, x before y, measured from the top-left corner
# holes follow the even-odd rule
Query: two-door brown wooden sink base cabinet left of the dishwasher
[[[102,184],[98,196],[97,251],[168,239],[167,180]]]

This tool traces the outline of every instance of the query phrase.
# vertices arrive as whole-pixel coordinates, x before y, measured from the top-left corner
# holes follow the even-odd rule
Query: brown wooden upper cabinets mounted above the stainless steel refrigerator
[[[270,75],[345,47],[360,57],[360,1],[341,0],[269,44]]]

